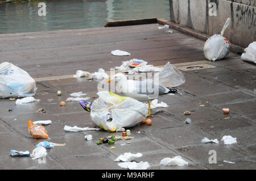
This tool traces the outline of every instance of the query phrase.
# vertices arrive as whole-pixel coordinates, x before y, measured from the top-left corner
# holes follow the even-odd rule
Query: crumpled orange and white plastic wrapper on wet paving
[[[32,121],[28,121],[28,132],[34,138],[49,138],[46,129],[42,125],[36,125]]]

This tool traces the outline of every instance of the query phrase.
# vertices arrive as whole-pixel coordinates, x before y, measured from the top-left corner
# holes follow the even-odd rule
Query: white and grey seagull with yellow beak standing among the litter
[[[139,100],[140,102],[147,101],[149,106],[148,116],[151,114],[149,100],[157,98],[158,95],[168,94],[170,92],[175,93],[177,91],[165,86],[156,85],[148,79],[144,81],[127,80],[126,75],[122,73],[115,74],[107,82],[111,81],[117,82],[115,88],[118,89],[118,92],[122,92],[123,95]]]

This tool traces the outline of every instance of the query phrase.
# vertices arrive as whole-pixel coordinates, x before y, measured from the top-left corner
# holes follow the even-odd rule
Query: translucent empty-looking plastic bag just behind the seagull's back
[[[176,87],[185,83],[185,77],[176,66],[167,62],[164,68],[154,75],[152,81],[154,81],[156,85]]]

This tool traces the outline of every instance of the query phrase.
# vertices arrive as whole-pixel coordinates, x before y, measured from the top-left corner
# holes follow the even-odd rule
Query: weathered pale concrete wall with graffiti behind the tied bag
[[[170,0],[170,20],[180,26],[208,34],[220,34],[226,19],[232,23],[224,36],[231,43],[247,47],[256,41],[256,0]],[[217,16],[209,15],[209,3],[216,3]]]

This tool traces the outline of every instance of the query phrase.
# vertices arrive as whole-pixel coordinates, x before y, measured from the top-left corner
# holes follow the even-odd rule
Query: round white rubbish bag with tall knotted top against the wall
[[[204,56],[208,60],[216,61],[229,54],[230,42],[223,35],[230,24],[230,18],[226,20],[221,35],[213,35],[204,44]]]

